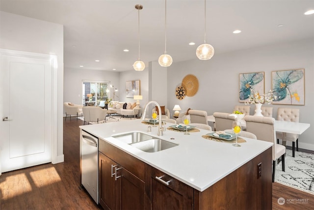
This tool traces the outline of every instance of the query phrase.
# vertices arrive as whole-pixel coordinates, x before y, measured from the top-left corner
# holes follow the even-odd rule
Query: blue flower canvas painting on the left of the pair
[[[240,73],[239,74],[239,102],[246,102],[249,96],[265,91],[265,72]]]

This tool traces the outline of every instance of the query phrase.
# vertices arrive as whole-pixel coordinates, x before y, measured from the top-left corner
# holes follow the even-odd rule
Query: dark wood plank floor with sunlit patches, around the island
[[[2,173],[0,210],[98,210],[79,186],[79,125],[82,120],[64,121],[64,162],[43,164]],[[278,199],[290,204],[278,204]],[[294,200],[291,200],[294,199]],[[303,199],[304,204],[297,204]],[[293,202],[292,202],[293,201]],[[273,183],[273,210],[313,210],[314,195]]]

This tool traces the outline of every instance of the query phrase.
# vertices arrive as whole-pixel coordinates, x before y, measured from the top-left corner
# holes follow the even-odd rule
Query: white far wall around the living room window
[[[119,72],[101,71],[101,70],[86,70],[65,68],[64,69],[64,102],[72,102],[74,104],[82,104],[82,81],[109,81],[114,88],[117,88],[116,95],[119,94]],[[112,92],[109,92],[112,97]],[[117,100],[117,97],[116,97]]]

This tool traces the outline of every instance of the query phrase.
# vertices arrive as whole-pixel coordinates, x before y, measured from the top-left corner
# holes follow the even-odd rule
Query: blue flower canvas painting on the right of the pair
[[[304,69],[272,71],[273,104],[305,105]]]

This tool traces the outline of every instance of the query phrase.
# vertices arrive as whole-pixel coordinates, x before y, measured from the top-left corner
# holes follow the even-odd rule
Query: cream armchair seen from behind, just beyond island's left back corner
[[[97,106],[84,106],[83,107],[83,117],[84,117],[84,124],[85,122],[97,122],[106,121],[107,110],[102,109],[101,107]]]

